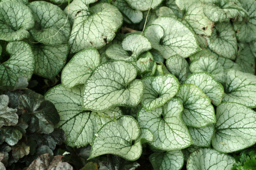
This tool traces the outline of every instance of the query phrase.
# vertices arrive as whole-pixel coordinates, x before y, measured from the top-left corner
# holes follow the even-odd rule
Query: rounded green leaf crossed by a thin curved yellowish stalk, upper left
[[[46,45],[67,42],[70,22],[61,8],[45,1],[34,1],[28,6],[35,18],[35,27],[29,32],[36,41]]]

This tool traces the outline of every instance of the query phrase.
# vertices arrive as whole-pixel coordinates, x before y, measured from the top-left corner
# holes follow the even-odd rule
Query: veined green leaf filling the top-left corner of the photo
[[[32,11],[18,1],[0,2],[0,40],[17,41],[29,37],[35,21]]]

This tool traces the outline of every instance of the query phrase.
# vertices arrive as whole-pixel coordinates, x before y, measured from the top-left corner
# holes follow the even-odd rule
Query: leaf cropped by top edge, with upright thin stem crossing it
[[[149,8],[156,8],[163,0],[126,0],[126,2],[134,9],[146,11]],[[152,3],[152,4],[151,4]]]

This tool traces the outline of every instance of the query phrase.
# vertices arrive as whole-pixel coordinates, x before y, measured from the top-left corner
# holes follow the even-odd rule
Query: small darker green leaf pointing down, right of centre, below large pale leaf
[[[191,74],[189,71],[189,64],[183,57],[179,55],[174,55],[166,60],[166,68],[171,74],[175,75],[180,83]]]

